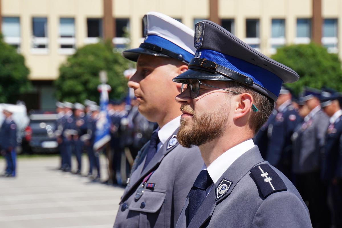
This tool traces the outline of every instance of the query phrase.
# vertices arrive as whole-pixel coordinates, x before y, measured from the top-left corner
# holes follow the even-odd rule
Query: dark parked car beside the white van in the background
[[[30,123],[25,129],[25,140],[32,153],[54,153],[58,143],[54,134],[57,114],[45,111],[31,111]]]

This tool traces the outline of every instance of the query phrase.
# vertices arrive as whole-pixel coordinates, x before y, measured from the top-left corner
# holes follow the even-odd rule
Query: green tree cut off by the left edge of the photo
[[[31,89],[29,73],[24,56],[0,34],[0,103],[15,103],[19,95]]]

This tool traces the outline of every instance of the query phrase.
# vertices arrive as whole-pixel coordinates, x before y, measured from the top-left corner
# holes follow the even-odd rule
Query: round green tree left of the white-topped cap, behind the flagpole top
[[[113,52],[110,42],[83,46],[61,65],[60,77],[55,81],[56,98],[81,103],[84,99],[98,101],[98,74],[101,70],[107,72],[107,84],[111,86],[109,98],[122,98],[127,92],[127,79],[123,71],[129,65],[129,61],[120,53]]]

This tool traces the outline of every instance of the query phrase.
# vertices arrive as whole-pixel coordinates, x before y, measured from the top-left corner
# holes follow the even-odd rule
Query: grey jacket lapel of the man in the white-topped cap
[[[145,147],[145,150],[143,151],[142,155],[144,156],[144,159],[142,159],[142,162],[137,166],[136,170],[132,173],[132,176],[130,178],[130,185],[127,187],[127,190],[124,191],[123,196],[121,198],[121,202],[126,199],[126,197],[129,195],[129,192],[131,192],[133,189],[135,189],[136,185],[140,185],[142,180],[145,176],[147,176],[150,172],[152,172],[156,166],[160,164],[160,162],[163,160],[163,158],[175,147],[177,147],[178,143],[174,145],[173,147],[167,149],[168,142],[171,139],[171,137],[175,134],[177,134],[178,129],[168,138],[168,140],[163,144],[163,146],[157,151],[157,153],[153,156],[151,161],[148,163],[148,165],[145,167],[145,169],[142,171],[145,159],[146,159],[146,152],[148,149],[148,145]],[[120,203],[121,203],[120,202]]]

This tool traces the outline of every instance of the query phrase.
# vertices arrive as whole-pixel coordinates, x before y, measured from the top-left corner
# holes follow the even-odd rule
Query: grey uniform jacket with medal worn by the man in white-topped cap
[[[121,198],[114,228],[175,227],[186,196],[203,165],[198,147],[187,149],[174,139],[177,131],[142,171],[149,142],[143,147],[141,159],[136,161],[136,169]],[[153,170],[147,183],[155,184],[154,189],[145,188],[141,198],[136,200],[144,177]]]

